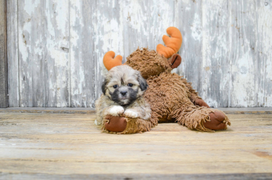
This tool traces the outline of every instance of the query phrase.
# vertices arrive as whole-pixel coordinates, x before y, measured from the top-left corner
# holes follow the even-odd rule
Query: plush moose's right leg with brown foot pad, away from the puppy
[[[230,125],[223,111],[193,105],[177,109],[173,117],[181,125],[204,132],[224,130]]]

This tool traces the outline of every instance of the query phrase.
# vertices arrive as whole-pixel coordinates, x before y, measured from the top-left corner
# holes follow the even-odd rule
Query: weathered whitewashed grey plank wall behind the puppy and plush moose
[[[272,106],[272,0],[7,0],[11,107],[94,107],[102,58],[181,30],[181,66],[214,107]]]

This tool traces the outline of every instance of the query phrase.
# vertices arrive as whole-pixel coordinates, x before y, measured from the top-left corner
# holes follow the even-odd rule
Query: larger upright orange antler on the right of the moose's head
[[[167,28],[166,32],[171,37],[163,35],[162,40],[166,46],[162,44],[157,45],[157,51],[159,54],[169,58],[181,48],[182,36],[180,30],[175,27]]]

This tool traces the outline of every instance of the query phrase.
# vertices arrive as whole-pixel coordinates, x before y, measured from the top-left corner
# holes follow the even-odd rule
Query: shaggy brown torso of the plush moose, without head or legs
[[[189,88],[176,73],[151,76],[147,79],[147,83],[149,88],[144,97],[150,104],[151,120],[154,118],[154,122],[173,121],[173,110],[179,109],[182,104],[193,105],[189,98],[191,96]]]

